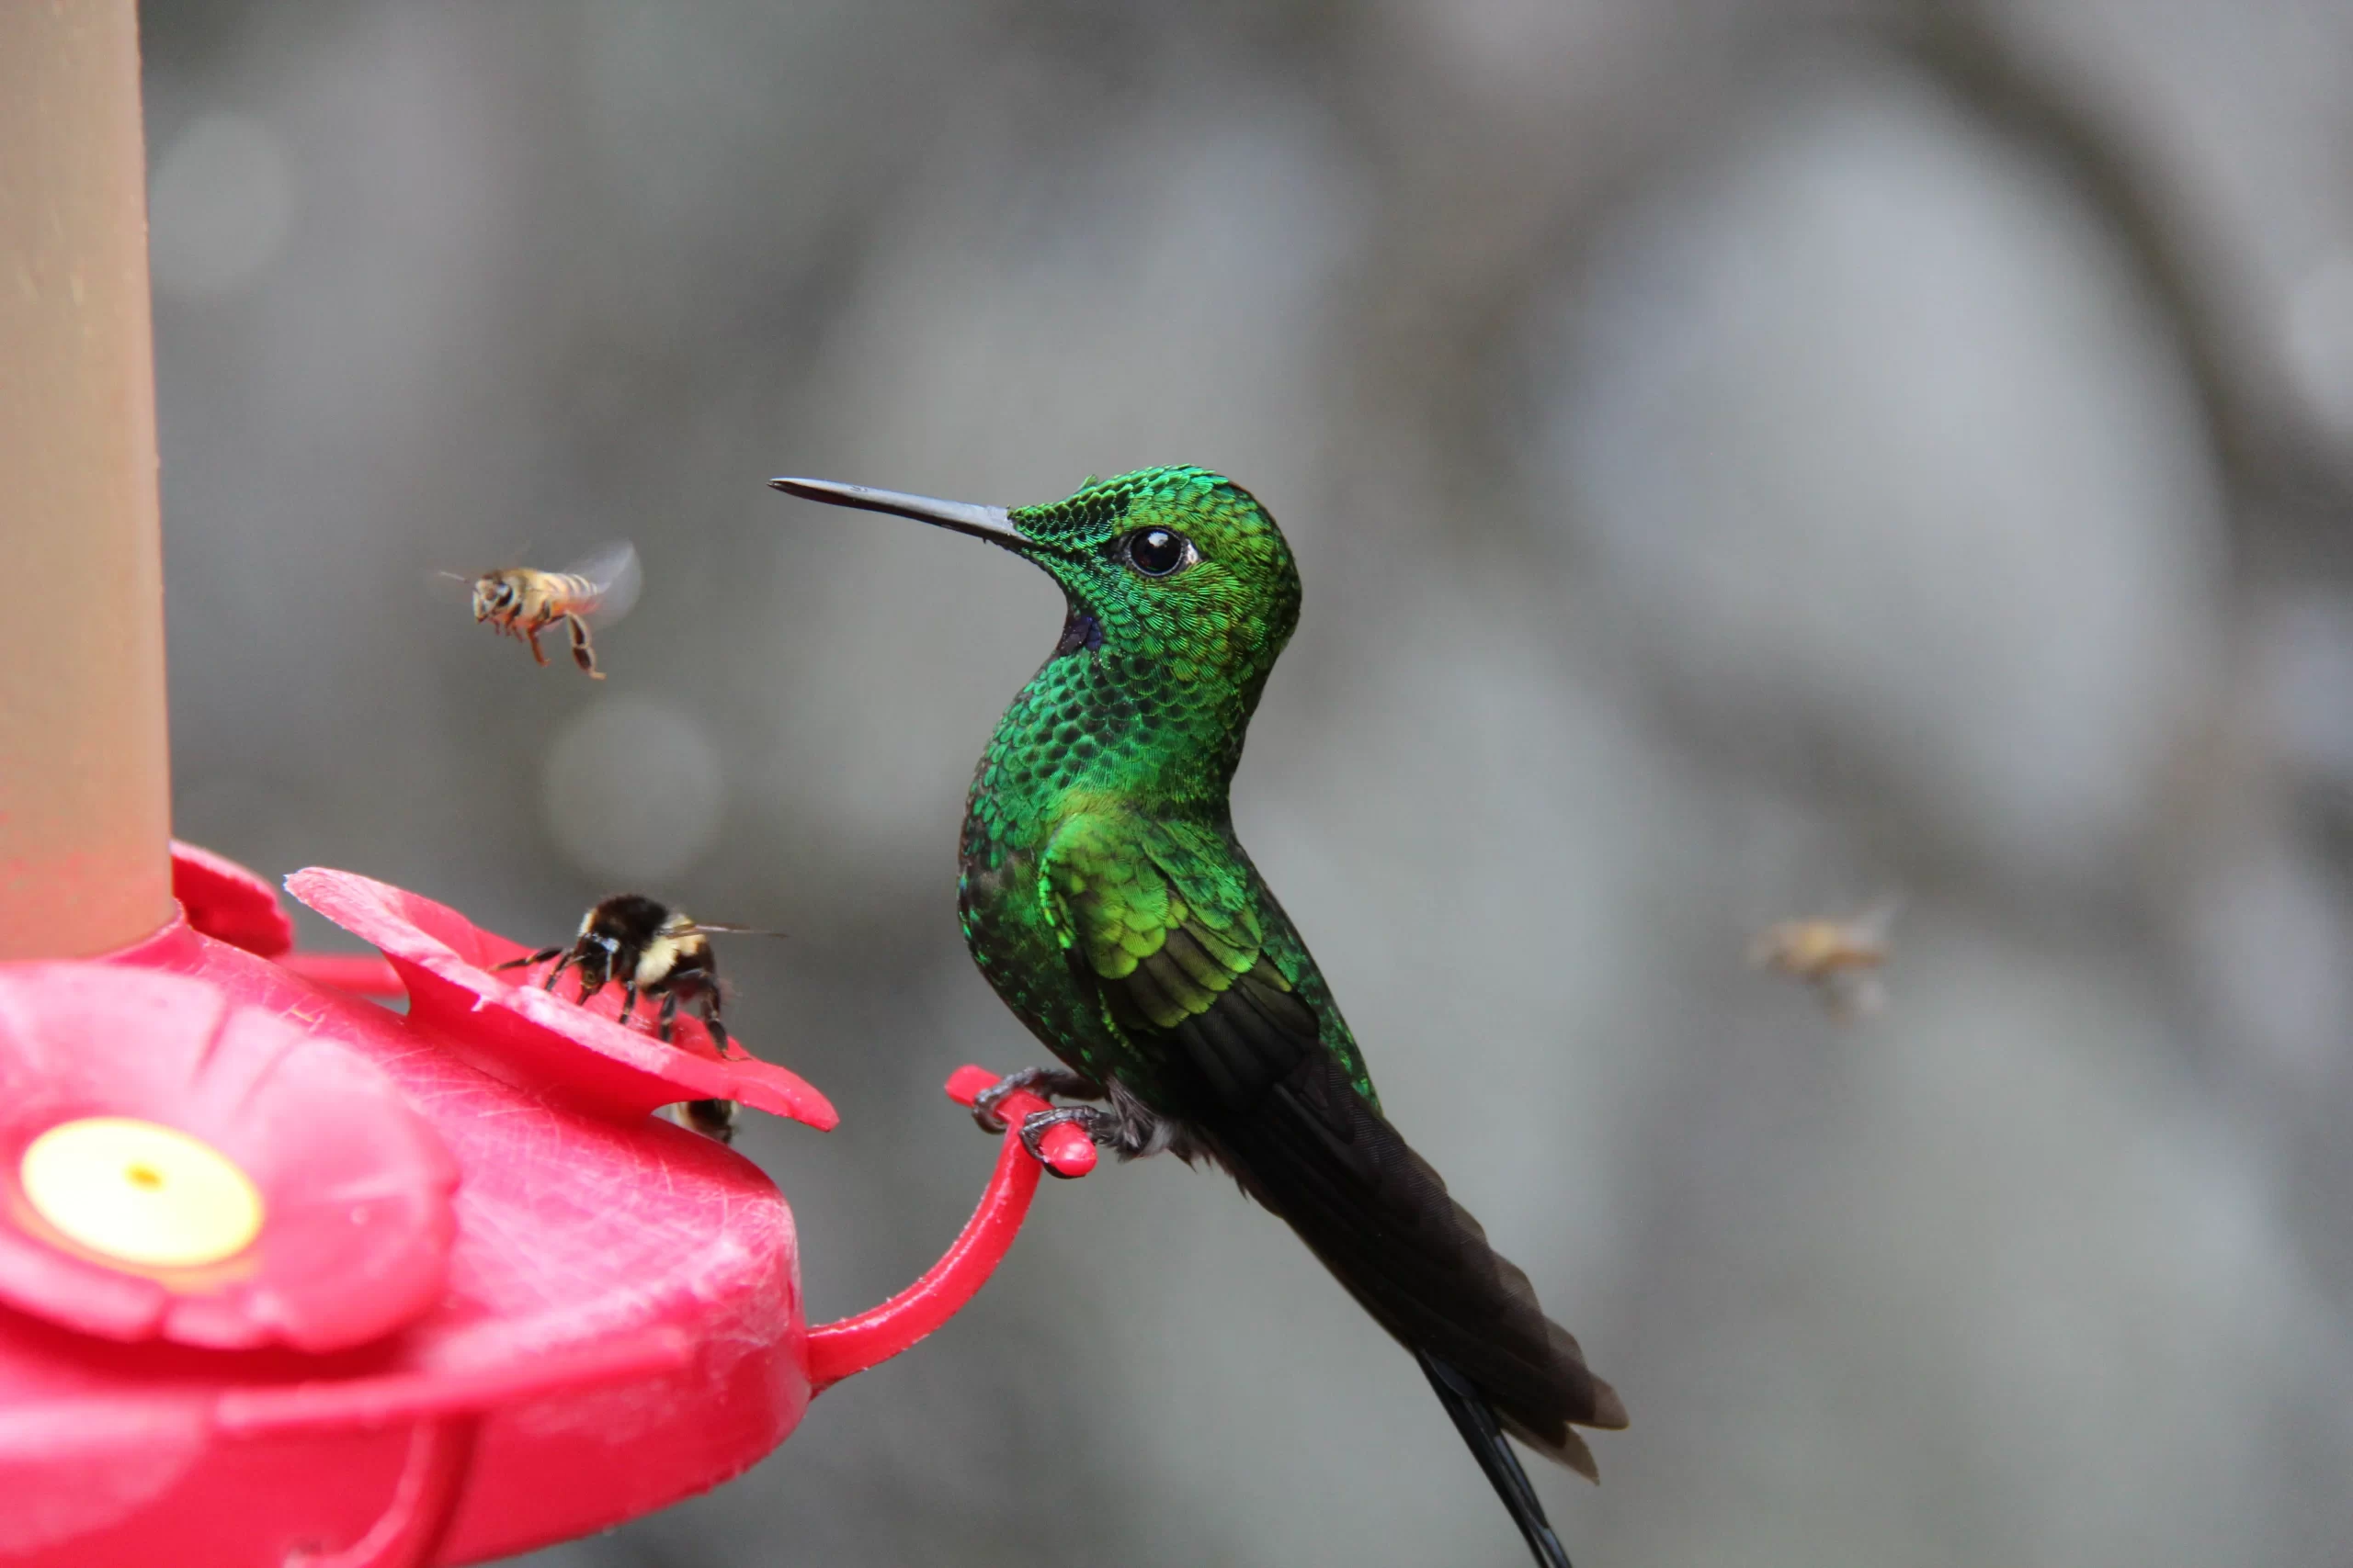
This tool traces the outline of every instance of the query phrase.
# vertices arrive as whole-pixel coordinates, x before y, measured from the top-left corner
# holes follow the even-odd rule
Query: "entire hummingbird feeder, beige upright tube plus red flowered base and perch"
[[[296,954],[266,882],[167,844],[132,0],[0,5],[0,254],[40,583],[0,616],[0,1566],[525,1552],[739,1474],[939,1328],[1038,1187],[1014,1133],[932,1272],[809,1326],[784,1197],[652,1114],[828,1128],[809,1084],[492,973],[522,947],[365,877],[292,886],[381,957]]]

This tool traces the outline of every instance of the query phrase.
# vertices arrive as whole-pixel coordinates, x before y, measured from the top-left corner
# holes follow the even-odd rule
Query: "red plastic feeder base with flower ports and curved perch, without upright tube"
[[[188,846],[160,933],[0,964],[0,1563],[407,1568],[600,1530],[744,1472],[1012,1246],[1038,1161],[1007,1133],[946,1258],[812,1328],[784,1197],[649,1112],[828,1128],[821,1093],[494,973],[525,950],[416,893],[289,886],[376,943],[405,1016],[322,983],[384,961],[320,973],[268,884]]]

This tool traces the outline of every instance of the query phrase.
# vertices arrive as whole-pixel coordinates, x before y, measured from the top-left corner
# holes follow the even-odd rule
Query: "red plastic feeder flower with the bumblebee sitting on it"
[[[492,973],[532,950],[421,893],[315,865],[287,877],[287,891],[381,947],[409,987],[409,1018],[438,1027],[456,1056],[518,1088],[616,1119],[680,1100],[739,1100],[819,1131],[840,1124],[826,1095],[793,1072],[755,1058],[722,1060],[692,1018],[678,1023],[678,1044],[666,1044],[616,1023],[616,994],[581,1006],[539,990],[525,971]]]

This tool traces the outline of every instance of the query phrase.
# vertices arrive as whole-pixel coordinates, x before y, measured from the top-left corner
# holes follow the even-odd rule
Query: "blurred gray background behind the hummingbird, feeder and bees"
[[[1579,1563],[2353,1563],[2353,9],[826,0],[146,16],[181,837],[631,886],[831,1138],[816,1316],[1040,1051],[965,959],[1012,557],[762,489],[1193,461],[1306,621],[1235,813],[1633,1408]],[[591,684],[426,590],[635,538]],[[1908,898],[1889,1006],[1744,969]],[[308,936],[334,945],[313,922]],[[536,1568],[1492,1563],[1214,1173]]]

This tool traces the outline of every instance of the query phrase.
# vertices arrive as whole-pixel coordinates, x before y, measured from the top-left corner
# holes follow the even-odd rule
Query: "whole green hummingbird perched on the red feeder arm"
[[[1224,1166],[1421,1363],[1527,1535],[1567,1568],[1504,1434],[1593,1479],[1574,1427],[1626,1406],[1527,1274],[1381,1114],[1315,959],[1233,832],[1228,785],[1299,623],[1299,569],[1257,498],[1202,468],[1087,480],[1026,508],[772,480],[809,501],[1002,545],[1064,590],[1061,637],[998,722],[965,806],[972,959],[1061,1058],[995,1086],[1122,1159]],[[1002,1124],[995,1124],[1002,1131]]]

